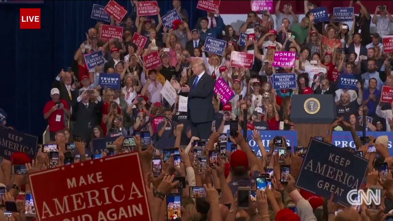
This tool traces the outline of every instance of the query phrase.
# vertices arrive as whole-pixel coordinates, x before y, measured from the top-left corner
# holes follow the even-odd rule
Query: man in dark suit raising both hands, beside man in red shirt
[[[71,120],[75,121],[72,134],[83,138],[88,144],[91,140],[92,128],[99,124],[97,116],[102,106],[103,102],[96,90],[94,94],[88,94],[84,90],[72,104]]]

